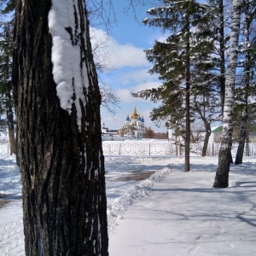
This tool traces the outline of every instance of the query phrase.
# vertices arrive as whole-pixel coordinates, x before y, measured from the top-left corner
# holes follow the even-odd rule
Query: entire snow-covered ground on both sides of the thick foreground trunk
[[[191,156],[189,173],[181,156],[105,161],[110,256],[256,255],[254,157],[231,166],[228,189],[212,189],[217,157]],[[15,157],[0,154],[0,256],[24,255],[20,191]]]

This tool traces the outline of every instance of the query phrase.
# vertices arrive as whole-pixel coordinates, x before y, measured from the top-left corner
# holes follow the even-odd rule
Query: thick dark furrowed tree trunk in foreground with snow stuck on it
[[[84,0],[16,1],[13,85],[26,255],[108,255],[100,93],[84,11]]]

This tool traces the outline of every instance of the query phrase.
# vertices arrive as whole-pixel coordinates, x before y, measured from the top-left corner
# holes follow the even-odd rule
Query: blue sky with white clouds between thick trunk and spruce
[[[111,40],[104,45],[104,51],[108,52],[108,62],[113,66],[110,74],[101,74],[116,95],[119,96],[119,108],[116,108],[116,115],[102,108],[102,123],[109,129],[120,129],[125,124],[127,113],[131,116],[134,107],[137,107],[137,113],[143,115],[145,125],[151,127],[154,131],[166,131],[164,122],[161,128],[158,128],[149,119],[149,113],[154,108],[154,103],[131,97],[131,92],[137,92],[147,88],[156,87],[161,82],[156,76],[148,73],[151,64],[146,59],[143,49],[148,49],[154,45],[154,40],[161,37],[160,30],[144,26],[141,20],[146,17],[146,11],[151,6],[137,6],[135,14],[132,11],[124,13],[125,6],[130,0],[113,0],[113,9],[117,19],[117,25],[113,26]],[[104,40],[102,30],[96,30],[97,38]],[[93,40],[92,40],[93,41]]]

